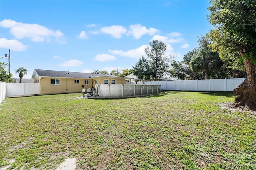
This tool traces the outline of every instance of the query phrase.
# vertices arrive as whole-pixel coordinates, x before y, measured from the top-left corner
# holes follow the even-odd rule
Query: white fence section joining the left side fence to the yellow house
[[[40,83],[6,83],[6,96],[40,94]]]

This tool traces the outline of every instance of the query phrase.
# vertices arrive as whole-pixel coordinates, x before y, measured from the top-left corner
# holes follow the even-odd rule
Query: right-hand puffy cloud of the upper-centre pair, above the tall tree
[[[154,35],[159,30],[155,28],[147,29],[145,26],[141,26],[140,24],[130,25],[130,31],[128,31],[128,35],[134,36],[136,39],[140,39],[140,37],[144,34],[149,34],[150,36]]]

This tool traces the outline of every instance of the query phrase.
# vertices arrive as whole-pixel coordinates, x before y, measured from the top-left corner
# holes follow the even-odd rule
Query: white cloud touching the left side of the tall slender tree
[[[145,53],[145,48],[148,47],[148,45],[142,45],[136,49],[131,49],[128,51],[122,51],[122,50],[109,50],[110,53],[113,54],[118,54],[121,56],[126,56],[126,57],[134,57],[134,58],[140,58],[142,55],[146,55]]]

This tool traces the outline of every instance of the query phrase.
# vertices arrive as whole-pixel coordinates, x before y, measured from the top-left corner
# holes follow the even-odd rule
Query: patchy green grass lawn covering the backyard
[[[164,92],[129,99],[81,93],[4,99],[0,167],[256,169],[256,117],[220,109],[228,92]]]

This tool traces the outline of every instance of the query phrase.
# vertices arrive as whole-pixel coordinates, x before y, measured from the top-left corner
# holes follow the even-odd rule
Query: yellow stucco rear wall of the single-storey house
[[[95,81],[98,81],[98,84],[104,84],[104,79],[108,79],[109,84],[111,84],[111,80],[116,80],[116,84],[125,84],[125,79],[108,77],[96,77],[93,79],[36,77],[35,79],[39,79],[41,94],[80,93],[82,91],[82,85],[84,85],[87,91],[88,88],[92,88],[92,84],[95,87]],[[59,79],[60,85],[52,85],[51,79]],[[74,80],[79,80],[79,83],[74,83]],[[89,81],[89,85],[84,84],[85,80]]]

